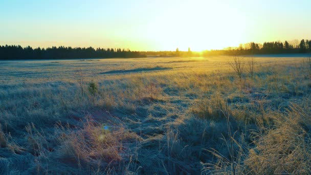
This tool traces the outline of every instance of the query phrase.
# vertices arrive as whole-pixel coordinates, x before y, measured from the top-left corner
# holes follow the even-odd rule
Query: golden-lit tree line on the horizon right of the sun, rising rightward
[[[261,43],[250,42],[240,45],[236,48],[226,48],[224,50],[210,50],[204,51],[204,56],[209,55],[253,55],[253,54],[298,54],[298,53],[310,53],[311,52],[311,40],[302,39],[300,42],[294,40],[288,42],[285,41],[273,41]]]

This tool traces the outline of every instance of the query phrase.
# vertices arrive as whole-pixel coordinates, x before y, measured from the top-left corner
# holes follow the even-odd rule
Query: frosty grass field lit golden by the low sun
[[[0,61],[0,174],[310,174],[310,58],[237,60]]]

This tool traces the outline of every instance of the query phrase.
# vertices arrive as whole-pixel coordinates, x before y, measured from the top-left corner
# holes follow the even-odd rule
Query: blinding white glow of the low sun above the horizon
[[[222,10],[215,10],[213,6],[222,6]],[[223,49],[238,46],[243,41],[244,24],[243,16],[226,5],[181,3],[159,14],[148,25],[146,35],[158,43],[160,50],[176,47],[184,51],[188,47],[193,51]]]

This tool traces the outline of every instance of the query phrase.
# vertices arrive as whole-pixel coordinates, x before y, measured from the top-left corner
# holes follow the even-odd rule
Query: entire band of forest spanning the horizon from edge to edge
[[[0,59],[75,59],[75,58],[142,58],[147,56],[213,56],[213,55],[259,55],[259,54],[298,54],[310,53],[311,40],[302,39],[300,42],[296,39],[290,42],[272,41],[255,43],[250,42],[239,47],[228,47],[223,50],[206,50],[201,53],[188,51],[130,51],[114,48],[72,48],[72,47],[52,47],[35,48],[21,46],[0,46]]]

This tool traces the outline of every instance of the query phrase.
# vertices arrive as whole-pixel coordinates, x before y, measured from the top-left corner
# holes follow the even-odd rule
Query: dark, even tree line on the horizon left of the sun
[[[139,58],[146,57],[145,54],[137,51],[121,50],[113,48],[72,48],[52,47],[35,48],[21,46],[0,46],[0,59],[74,59],[74,58]]]

